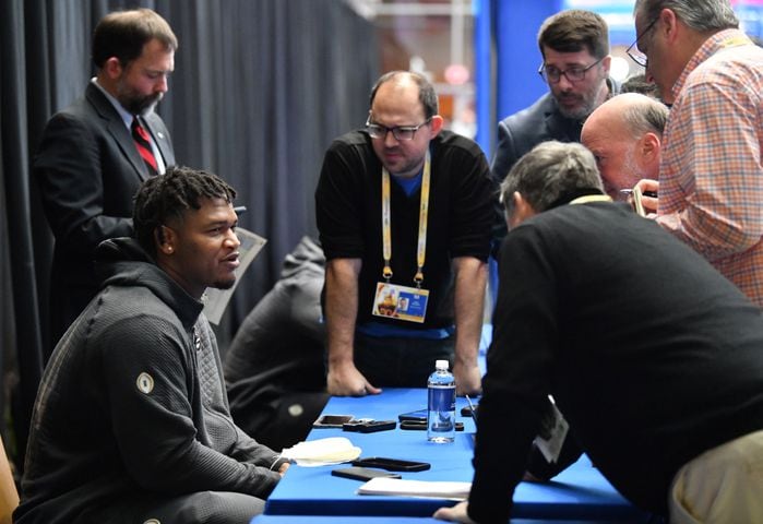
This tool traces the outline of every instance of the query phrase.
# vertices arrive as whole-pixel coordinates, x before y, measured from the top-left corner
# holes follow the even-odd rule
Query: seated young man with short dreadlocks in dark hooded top
[[[249,523],[288,464],[230,418],[207,287],[236,279],[236,192],[175,167],[141,187],[135,238],[100,243],[100,293],[56,347],[14,522]]]

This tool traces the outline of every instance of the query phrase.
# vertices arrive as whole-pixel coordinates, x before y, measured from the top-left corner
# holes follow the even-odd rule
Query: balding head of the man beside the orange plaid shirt
[[[604,187],[613,199],[642,178],[657,179],[668,108],[637,93],[601,104],[583,126],[581,142],[596,157]]]

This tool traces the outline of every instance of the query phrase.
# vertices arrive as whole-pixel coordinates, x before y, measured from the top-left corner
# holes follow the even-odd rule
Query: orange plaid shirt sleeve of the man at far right
[[[671,111],[660,168],[657,221],[711,262],[763,236],[763,81],[738,69],[694,71]]]

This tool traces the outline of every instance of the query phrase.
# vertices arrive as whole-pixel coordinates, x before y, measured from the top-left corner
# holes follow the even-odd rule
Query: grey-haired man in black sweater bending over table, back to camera
[[[468,502],[436,516],[506,522],[552,395],[568,441],[636,505],[672,524],[760,522],[760,310],[601,193],[579,144],[538,145],[504,181],[510,234],[474,484]]]

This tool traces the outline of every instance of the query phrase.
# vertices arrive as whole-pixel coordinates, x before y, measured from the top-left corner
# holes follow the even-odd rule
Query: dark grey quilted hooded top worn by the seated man
[[[104,287],[39,386],[15,522],[73,522],[145,493],[265,498],[278,457],[230,417],[203,305],[131,239],[97,259]]]

